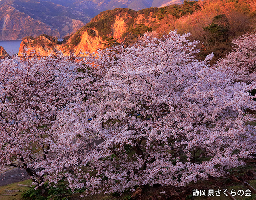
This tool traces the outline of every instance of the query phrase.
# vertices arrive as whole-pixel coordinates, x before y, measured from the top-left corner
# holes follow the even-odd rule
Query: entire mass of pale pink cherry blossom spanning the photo
[[[148,33],[81,61],[2,60],[2,169],[22,167],[37,186],[65,180],[89,194],[185,186],[245,164],[256,153],[256,36],[238,38],[215,66],[213,54],[196,60],[189,36]],[[236,68],[249,70],[250,81]]]

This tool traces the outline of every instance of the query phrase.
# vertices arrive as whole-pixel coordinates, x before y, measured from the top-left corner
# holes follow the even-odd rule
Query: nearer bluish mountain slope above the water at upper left
[[[36,0],[0,1],[0,40],[48,34],[63,37],[76,32],[90,17],[84,12],[52,2]]]

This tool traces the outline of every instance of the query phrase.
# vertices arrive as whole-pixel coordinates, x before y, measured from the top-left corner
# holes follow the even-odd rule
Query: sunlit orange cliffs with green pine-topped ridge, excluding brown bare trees
[[[128,8],[116,8],[101,12],[92,18],[91,22],[80,28],[72,36],[66,37],[62,44],[48,45],[42,36],[22,41],[19,56],[25,46],[41,55],[53,52],[52,47],[61,50],[64,55],[94,52],[97,48],[117,44],[118,42],[131,43],[142,36],[144,32],[156,30],[164,16],[172,14],[176,18],[192,14],[199,8],[198,3],[186,2],[182,5],[171,5],[165,8],[147,8],[134,11]],[[40,41],[40,42],[39,42]],[[42,44],[41,50],[38,45]]]

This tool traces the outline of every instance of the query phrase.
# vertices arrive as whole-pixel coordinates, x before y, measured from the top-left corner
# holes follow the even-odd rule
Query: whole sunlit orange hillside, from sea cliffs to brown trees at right
[[[122,42],[129,45],[146,31],[162,37],[170,30],[177,29],[183,34],[191,32],[191,40],[199,40],[200,59],[214,52],[213,62],[232,50],[232,40],[255,28],[256,12],[246,0],[185,2],[163,8],[147,8],[134,11],[116,8],[101,12],[91,22],[80,28],[72,36],[66,37],[62,44],[45,45],[40,38],[23,41],[19,56],[27,46],[41,55],[53,53],[53,49],[69,55],[70,52],[94,52]],[[43,44],[38,51],[40,43]],[[37,45],[35,45],[37,44]]]

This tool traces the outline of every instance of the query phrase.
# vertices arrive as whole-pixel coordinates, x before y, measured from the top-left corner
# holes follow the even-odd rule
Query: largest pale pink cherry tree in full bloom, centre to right
[[[255,82],[234,82],[198,61],[197,41],[175,31],[145,34],[128,48],[85,58],[72,86],[74,102],[57,117],[53,157],[41,162],[48,181],[65,178],[88,193],[136,185],[185,186],[224,176],[256,151]],[[235,58],[234,58],[235,59]]]

